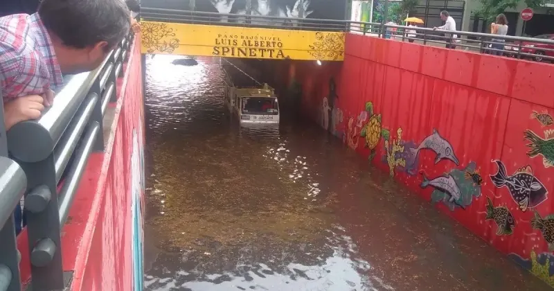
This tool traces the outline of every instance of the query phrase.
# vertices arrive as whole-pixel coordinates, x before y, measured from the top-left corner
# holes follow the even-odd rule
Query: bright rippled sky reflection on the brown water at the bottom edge
[[[242,244],[220,245],[213,252],[186,250],[162,254],[158,261],[180,265],[177,272],[153,270],[146,276],[151,290],[367,290],[367,262],[353,258],[357,250],[344,230],[328,230],[325,240],[301,243],[267,235]],[[278,244],[276,244],[278,242]]]

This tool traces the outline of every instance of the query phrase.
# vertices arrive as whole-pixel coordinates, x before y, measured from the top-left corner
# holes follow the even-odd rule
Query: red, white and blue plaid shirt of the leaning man
[[[37,13],[0,17],[0,89],[4,102],[61,85],[50,36]]]

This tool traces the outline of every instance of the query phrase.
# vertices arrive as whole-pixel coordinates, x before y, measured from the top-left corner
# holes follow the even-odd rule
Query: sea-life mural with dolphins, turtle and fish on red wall
[[[497,92],[415,71],[404,75],[395,58],[371,55],[377,52],[350,58],[347,48],[338,69],[296,69],[295,78],[310,84],[305,107],[321,108],[321,126],[342,132],[345,146],[554,287],[554,108],[515,99],[503,104],[509,98]],[[387,78],[397,71],[402,78]],[[330,77],[332,88],[321,81]],[[422,89],[415,80],[425,83]],[[454,91],[460,96],[452,97]],[[320,96],[317,103],[313,96]],[[331,108],[343,119],[332,122]]]

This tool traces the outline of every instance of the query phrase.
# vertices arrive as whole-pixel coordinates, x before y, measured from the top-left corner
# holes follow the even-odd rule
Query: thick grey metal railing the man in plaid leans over
[[[13,213],[24,197],[31,285],[64,290],[72,272],[62,268],[61,229],[89,155],[103,151],[102,118],[116,101],[116,79],[134,38],[129,33],[97,69],[64,76],[55,102],[37,121],[0,128],[0,291],[20,291]],[[3,110],[0,110],[3,114]],[[0,116],[3,120],[3,116]],[[9,158],[8,158],[9,151]],[[58,191],[59,189],[59,191]]]

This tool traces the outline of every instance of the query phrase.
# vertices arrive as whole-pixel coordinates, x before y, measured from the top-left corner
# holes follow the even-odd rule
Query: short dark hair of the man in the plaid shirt
[[[43,0],[38,13],[49,33],[74,48],[103,41],[110,50],[131,26],[131,12],[122,0]]]

